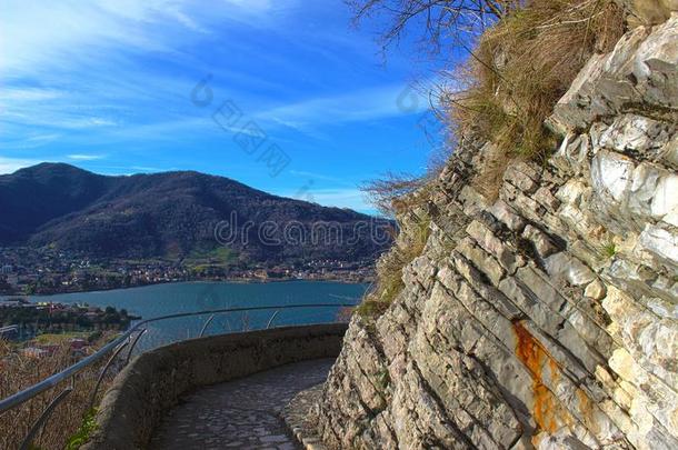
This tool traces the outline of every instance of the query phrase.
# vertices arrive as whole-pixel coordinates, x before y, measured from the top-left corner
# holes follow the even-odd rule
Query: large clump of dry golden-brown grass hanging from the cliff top
[[[514,158],[546,160],[556,138],[545,120],[587,59],[611,50],[624,31],[612,0],[539,0],[482,34],[451,74],[460,91],[443,98],[455,136],[497,144],[477,170],[480,191],[496,197],[498,173]]]

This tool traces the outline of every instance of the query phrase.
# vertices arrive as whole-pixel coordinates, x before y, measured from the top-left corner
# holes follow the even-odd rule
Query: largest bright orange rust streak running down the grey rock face
[[[557,363],[520,321],[514,322],[514,331],[517,338],[516,356],[529,369],[532,376],[532,394],[535,399],[532,416],[540,430],[554,433],[558,429],[558,404],[551,391],[544,384],[542,370],[545,362],[548,361],[551,378],[555,381]]]

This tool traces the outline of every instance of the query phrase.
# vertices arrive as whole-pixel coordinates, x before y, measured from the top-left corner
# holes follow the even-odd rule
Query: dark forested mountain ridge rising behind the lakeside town
[[[386,220],[198,172],[107,177],[42,163],[0,176],[0,244],[94,257],[182,258],[227,247],[249,261],[373,258]]]

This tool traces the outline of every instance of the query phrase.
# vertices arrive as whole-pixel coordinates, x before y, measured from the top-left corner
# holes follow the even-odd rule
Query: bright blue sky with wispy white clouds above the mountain
[[[370,211],[362,182],[428,160],[433,71],[407,42],[385,62],[341,0],[0,0],[0,18],[1,173],[198,170]]]

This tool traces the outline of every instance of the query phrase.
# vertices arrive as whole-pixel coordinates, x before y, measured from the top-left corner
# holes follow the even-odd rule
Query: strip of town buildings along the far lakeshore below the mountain
[[[177,260],[92,259],[50,248],[0,248],[0,296],[124,289],[182,281],[369,282],[373,260],[310,260],[278,264],[227,261],[216,253]]]

